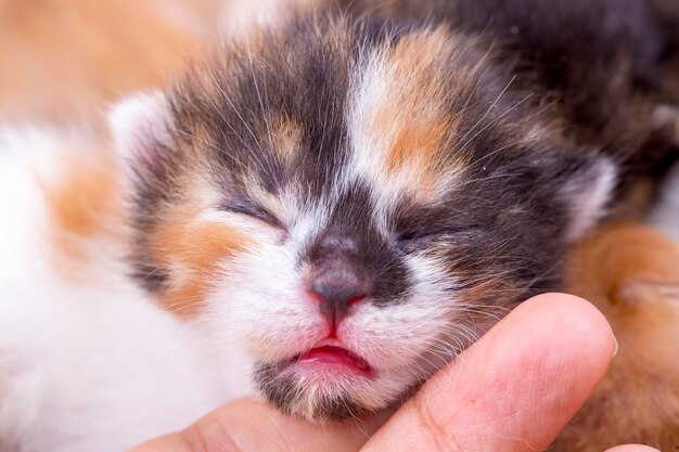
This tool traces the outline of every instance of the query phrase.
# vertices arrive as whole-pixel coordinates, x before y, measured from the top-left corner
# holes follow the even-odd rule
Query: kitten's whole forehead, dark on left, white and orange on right
[[[226,189],[248,181],[251,194],[300,205],[332,203],[359,182],[382,208],[403,197],[436,202],[454,188],[473,158],[472,98],[484,95],[474,39],[445,28],[313,24],[248,44],[178,91],[179,133],[218,151],[216,168],[232,176]]]

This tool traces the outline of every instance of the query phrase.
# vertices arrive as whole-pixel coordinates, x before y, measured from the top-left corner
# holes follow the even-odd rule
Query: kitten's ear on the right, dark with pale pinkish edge
[[[566,179],[559,195],[569,216],[566,240],[575,241],[606,215],[618,171],[611,158],[587,154],[576,157],[564,169]]]

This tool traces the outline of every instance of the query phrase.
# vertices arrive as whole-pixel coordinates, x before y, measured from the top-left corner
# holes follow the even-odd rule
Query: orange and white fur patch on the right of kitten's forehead
[[[458,131],[447,78],[454,39],[445,30],[402,37],[375,49],[354,75],[347,113],[348,172],[393,195],[433,198],[446,175],[462,170],[463,154],[446,155]]]

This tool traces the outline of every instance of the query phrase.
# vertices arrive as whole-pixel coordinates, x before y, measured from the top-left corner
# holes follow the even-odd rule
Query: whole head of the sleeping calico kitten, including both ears
[[[137,276],[286,412],[397,400],[553,287],[608,196],[477,38],[316,17],[215,60],[114,112]]]

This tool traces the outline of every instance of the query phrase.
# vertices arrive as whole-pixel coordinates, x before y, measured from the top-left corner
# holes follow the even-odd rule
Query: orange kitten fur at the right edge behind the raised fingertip
[[[604,228],[572,256],[569,288],[606,315],[619,351],[551,450],[679,447],[679,246],[648,228]]]

